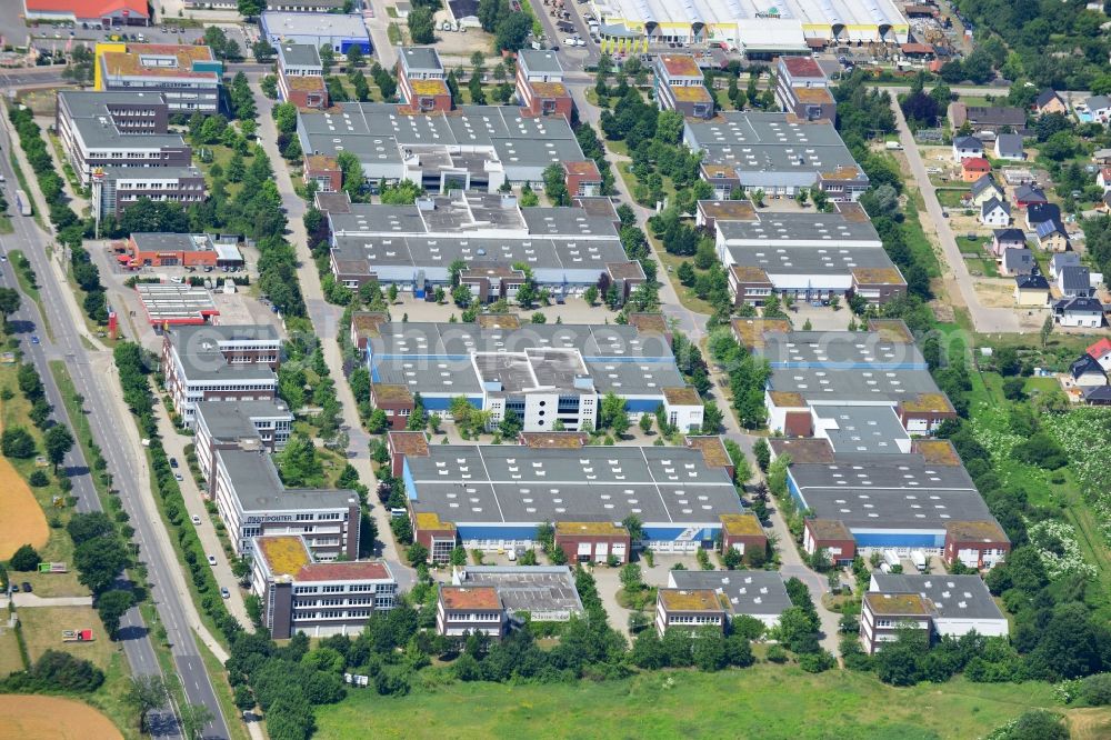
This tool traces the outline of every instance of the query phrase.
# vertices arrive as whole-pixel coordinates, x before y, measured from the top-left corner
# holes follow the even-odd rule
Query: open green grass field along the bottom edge
[[[975,738],[1032,707],[1054,707],[1049,684],[958,679],[893,689],[867,674],[814,676],[763,663],[604,683],[457,683],[400,699],[352,691],[342,703],[318,711],[317,737]],[[1111,711],[1095,718],[1111,730],[1109,720]],[[1090,714],[1085,721],[1092,722]]]

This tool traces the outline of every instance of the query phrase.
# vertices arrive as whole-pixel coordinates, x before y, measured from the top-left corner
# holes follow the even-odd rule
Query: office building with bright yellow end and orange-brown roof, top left
[[[223,62],[209,47],[177,43],[98,43],[94,89],[161,92],[172,113],[220,111]]]

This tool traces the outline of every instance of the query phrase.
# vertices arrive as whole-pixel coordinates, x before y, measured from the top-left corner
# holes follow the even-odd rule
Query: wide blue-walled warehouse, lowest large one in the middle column
[[[725,468],[699,449],[430,446],[398,434],[390,433],[392,466],[418,541],[427,539],[422,527],[436,523],[440,537],[450,526],[467,549],[528,549],[544,522],[557,531],[564,522],[615,528],[635,516],[643,541],[632,547],[694,552],[714,546],[723,514],[741,513]],[[577,552],[573,537],[565,542],[564,551]]]

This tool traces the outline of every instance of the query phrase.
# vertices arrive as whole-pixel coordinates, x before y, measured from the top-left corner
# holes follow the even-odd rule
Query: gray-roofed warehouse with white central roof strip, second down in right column
[[[857,203],[834,203],[829,213],[760,212],[749,201],[715,204],[714,247],[738,306],[760,306],[772,292],[808,303],[861,296],[874,304],[907,292]]]

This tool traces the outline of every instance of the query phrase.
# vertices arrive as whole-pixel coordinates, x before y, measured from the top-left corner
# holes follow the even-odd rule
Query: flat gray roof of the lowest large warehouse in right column
[[[949,522],[993,521],[964,466],[921,454],[839,456],[795,463],[789,474],[802,506],[850,529],[943,530]]]

